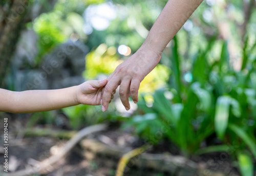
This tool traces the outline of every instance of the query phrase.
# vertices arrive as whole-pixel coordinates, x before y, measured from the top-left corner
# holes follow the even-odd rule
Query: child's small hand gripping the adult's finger
[[[80,84],[77,91],[77,102],[84,105],[101,105],[102,89],[107,82],[107,79],[102,81],[90,80]],[[114,98],[115,93],[116,91],[112,92],[111,99]]]

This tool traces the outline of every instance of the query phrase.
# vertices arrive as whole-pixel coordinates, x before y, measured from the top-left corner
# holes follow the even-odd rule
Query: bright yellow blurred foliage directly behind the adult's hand
[[[95,51],[90,52],[86,57],[86,70],[84,78],[95,79],[100,74],[111,74],[115,68],[123,62],[116,54],[114,46],[107,47],[106,44],[99,45]],[[148,74],[140,85],[140,92],[152,92],[158,88],[164,87],[168,80],[169,69],[159,64]]]

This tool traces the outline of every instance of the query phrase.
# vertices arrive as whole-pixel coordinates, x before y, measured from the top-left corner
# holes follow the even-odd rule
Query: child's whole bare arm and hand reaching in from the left
[[[100,105],[102,89],[108,80],[87,81],[78,86],[55,90],[27,90],[14,92],[0,89],[0,111],[32,113],[51,111],[79,104]],[[111,94],[114,98],[115,91]],[[111,100],[109,101],[109,103]]]

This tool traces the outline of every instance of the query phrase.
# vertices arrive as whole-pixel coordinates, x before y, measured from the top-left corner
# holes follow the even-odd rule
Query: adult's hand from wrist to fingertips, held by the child
[[[108,109],[111,94],[119,85],[120,99],[125,109],[130,109],[130,96],[137,103],[140,83],[159,63],[161,54],[142,45],[134,55],[118,65],[108,77],[108,83],[102,91],[102,111]]]

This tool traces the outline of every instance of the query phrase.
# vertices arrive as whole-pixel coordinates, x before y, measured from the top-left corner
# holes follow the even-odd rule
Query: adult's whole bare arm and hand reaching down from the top
[[[167,2],[138,51],[117,66],[108,77],[108,84],[102,91],[102,111],[108,109],[111,93],[119,85],[120,99],[126,110],[130,109],[130,96],[134,103],[138,102],[141,81],[156,67],[166,45],[202,2],[203,0]]]

